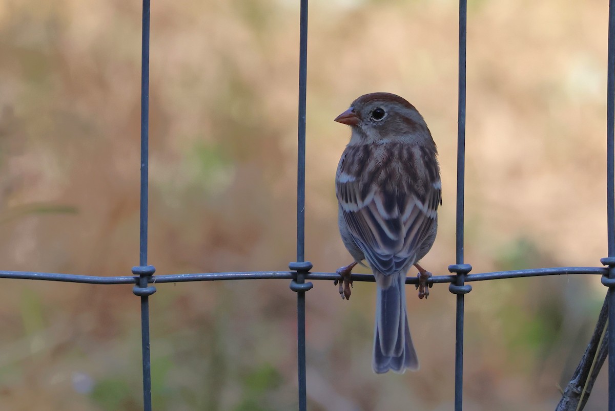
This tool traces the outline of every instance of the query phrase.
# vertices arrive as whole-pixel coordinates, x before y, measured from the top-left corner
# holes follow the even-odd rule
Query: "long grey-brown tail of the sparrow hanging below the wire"
[[[371,366],[378,374],[393,370],[418,370],[415,347],[410,337],[406,311],[405,275],[395,273],[388,286],[378,283],[376,327]],[[388,280],[388,279],[387,279]]]

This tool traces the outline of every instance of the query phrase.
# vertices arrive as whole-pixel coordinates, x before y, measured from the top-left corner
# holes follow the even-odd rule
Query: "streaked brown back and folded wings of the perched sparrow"
[[[435,155],[422,147],[391,142],[346,147],[336,192],[372,268],[389,275],[421,257],[442,202],[439,174]]]

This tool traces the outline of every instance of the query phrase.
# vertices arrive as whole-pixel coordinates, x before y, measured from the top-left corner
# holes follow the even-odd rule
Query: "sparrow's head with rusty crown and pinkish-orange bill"
[[[335,121],[352,127],[351,145],[386,141],[434,144],[415,106],[392,93],[362,95]]]

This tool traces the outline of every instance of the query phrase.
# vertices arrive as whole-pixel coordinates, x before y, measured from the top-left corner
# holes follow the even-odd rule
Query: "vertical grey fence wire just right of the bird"
[[[467,1],[459,0],[459,101],[457,125],[457,222],[456,222],[456,262],[463,264],[464,242],[464,184],[466,163],[466,25]],[[457,285],[462,286],[465,274],[457,275]],[[463,334],[464,334],[464,294],[457,294],[455,327],[455,397],[454,409],[463,407]]]

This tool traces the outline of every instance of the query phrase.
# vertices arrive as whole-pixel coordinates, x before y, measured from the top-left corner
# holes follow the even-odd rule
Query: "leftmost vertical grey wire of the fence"
[[[148,157],[149,157],[149,0],[143,0],[141,34],[141,218],[139,265],[148,264]],[[148,286],[148,276],[141,275],[139,286]],[[143,359],[143,409],[151,411],[151,362],[149,359],[149,297],[141,296],[141,351]]]

